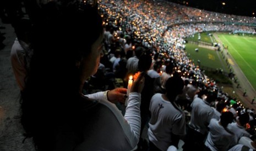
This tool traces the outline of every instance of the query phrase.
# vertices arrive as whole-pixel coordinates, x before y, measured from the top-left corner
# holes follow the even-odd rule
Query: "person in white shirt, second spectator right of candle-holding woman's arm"
[[[214,109],[210,103],[215,101],[217,94],[208,90],[201,90],[198,97],[191,104],[192,112],[183,150],[202,150],[208,133],[208,125],[214,116]]]

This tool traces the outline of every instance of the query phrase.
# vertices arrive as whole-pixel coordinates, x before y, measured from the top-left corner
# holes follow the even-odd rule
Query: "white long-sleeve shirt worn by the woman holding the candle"
[[[140,94],[129,94],[124,116],[115,104],[104,99],[104,92],[86,96],[99,101],[100,105],[93,109],[94,113],[90,112],[94,117],[91,126],[95,129],[85,130],[84,136],[89,138],[75,150],[132,150],[140,137]]]

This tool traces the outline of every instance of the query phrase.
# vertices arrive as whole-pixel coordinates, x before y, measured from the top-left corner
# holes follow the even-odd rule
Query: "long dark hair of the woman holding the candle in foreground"
[[[81,136],[80,69],[103,33],[97,8],[80,1],[51,1],[33,18],[30,72],[22,95],[21,124],[39,150],[52,150],[63,125]],[[77,141],[79,143],[81,139]]]

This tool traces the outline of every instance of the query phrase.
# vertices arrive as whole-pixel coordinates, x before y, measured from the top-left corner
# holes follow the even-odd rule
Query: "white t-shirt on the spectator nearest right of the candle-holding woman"
[[[171,102],[164,100],[162,94],[155,94],[150,101],[148,136],[150,142],[161,150],[167,150],[171,145],[171,133],[183,136],[186,134],[185,115],[177,110]]]

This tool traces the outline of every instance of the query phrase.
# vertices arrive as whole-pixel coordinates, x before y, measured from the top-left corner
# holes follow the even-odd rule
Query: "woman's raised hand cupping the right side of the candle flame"
[[[145,78],[144,75],[146,73],[145,72],[141,72],[139,73],[139,76],[136,76],[136,79],[133,82],[132,88],[130,88],[130,92],[138,92],[141,93],[141,91],[144,88],[144,82],[145,82]],[[136,75],[136,74],[135,74]],[[138,74],[137,74],[138,75]]]

